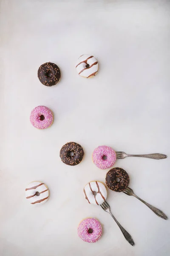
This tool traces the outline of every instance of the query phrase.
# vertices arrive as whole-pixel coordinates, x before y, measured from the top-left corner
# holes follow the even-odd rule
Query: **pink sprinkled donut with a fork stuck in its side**
[[[92,154],[94,164],[100,169],[108,169],[116,162],[116,152],[108,146],[98,146]]]

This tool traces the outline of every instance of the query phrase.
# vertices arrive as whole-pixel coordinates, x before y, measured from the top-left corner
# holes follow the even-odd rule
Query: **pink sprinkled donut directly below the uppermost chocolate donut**
[[[31,111],[30,122],[37,129],[45,129],[53,123],[53,112],[45,106],[37,106]]]

